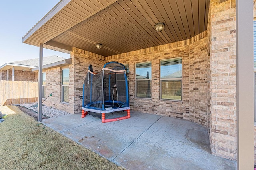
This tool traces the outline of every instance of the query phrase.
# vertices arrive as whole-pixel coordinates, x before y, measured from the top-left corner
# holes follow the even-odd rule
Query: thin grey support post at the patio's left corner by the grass
[[[38,121],[42,121],[42,68],[43,68],[43,44],[39,46],[39,70],[38,70]]]

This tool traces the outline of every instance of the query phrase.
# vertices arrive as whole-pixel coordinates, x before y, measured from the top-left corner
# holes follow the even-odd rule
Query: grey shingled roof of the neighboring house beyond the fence
[[[43,57],[43,65],[55,63],[58,61],[65,60],[63,57],[59,57],[56,55]],[[14,61],[10,63],[5,63],[4,65],[0,66],[0,70],[8,70],[14,66],[14,70],[32,70],[32,68],[36,68],[39,66],[39,59],[27,59],[21,61]]]

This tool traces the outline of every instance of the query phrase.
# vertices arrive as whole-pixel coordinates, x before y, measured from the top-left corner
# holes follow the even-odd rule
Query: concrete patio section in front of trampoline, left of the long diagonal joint
[[[132,115],[133,119],[109,123],[101,123],[98,119],[62,134],[112,161],[161,117],[148,117],[148,114],[141,115],[138,112]],[[88,115],[85,119],[91,117]]]

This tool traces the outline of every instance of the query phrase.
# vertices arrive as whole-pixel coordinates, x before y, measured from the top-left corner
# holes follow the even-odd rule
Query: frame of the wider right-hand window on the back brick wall
[[[161,78],[161,61],[168,61],[168,60],[178,60],[181,59],[181,78]],[[182,86],[182,73],[183,73],[183,67],[182,67],[182,57],[175,57],[175,58],[169,58],[169,59],[161,59],[159,62],[160,69],[159,69],[159,81],[160,81],[160,89],[159,89],[159,100],[167,100],[167,101],[174,101],[174,102],[182,102],[183,100],[183,86]],[[163,99],[162,98],[162,80],[180,80],[181,82],[181,99],[180,100],[175,100],[175,99]]]

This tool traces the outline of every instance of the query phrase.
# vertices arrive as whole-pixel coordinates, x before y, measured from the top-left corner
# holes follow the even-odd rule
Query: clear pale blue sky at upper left
[[[0,5],[0,66],[39,58],[39,47],[22,43],[22,37],[60,0],[4,0]],[[43,56],[70,54],[44,49]]]

